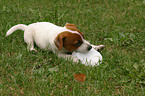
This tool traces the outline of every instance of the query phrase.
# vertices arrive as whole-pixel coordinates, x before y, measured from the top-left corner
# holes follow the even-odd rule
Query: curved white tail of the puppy
[[[18,24],[18,25],[15,25],[13,26],[12,28],[10,28],[7,33],[6,33],[6,36],[9,36],[11,35],[14,31],[16,30],[23,30],[25,31],[25,29],[27,28],[27,25],[24,25],[24,24]]]

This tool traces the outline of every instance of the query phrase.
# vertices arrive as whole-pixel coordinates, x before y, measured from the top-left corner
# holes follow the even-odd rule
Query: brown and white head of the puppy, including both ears
[[[64,48],[68,52],[88,52],[92,48],[90,44],[85,42],[84,34],[76,28],[76,25],[67,23],[65,27],[71,31],[61,32],[54,41],[59,50]]]

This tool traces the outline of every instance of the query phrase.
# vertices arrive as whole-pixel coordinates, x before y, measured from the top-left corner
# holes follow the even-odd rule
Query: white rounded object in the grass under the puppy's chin
[[[102,55],[94,48],[87,53],[73,52],[72,56],[78,58],[86,66],[95,66],[102,62]]]

